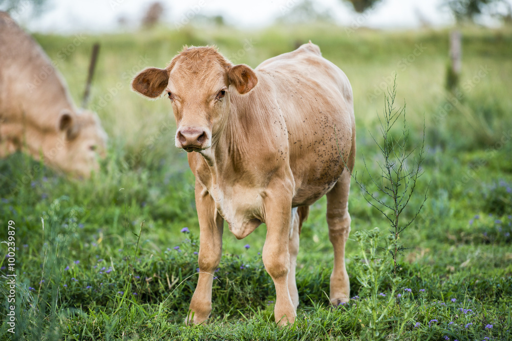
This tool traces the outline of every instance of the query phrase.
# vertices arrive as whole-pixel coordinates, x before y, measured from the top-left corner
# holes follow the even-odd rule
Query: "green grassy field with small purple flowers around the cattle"
[[[109,134],[109,153],[101,172],[87,181],[46,168],[34,171],[38,164],[19,153],[0,161],[0,240],[7,240],[8,221],[14,221],[17,274],[17,334],[8,331],[6,317],[1,338],[510,339],[512,29],[463,30],[456,94],[444,86],[448,33],[185,27],[83,35],[78,44],[74,36],[36,35],[76,103],[92,44],[101,43],[90,107]],[[352,83],[361,181],[369,180],[364,161],[374,176],[380,174],[372,136],[380,142],[377,113],[383,111],[383,89],[393,85],[395,75],[411,146],[421,143],[425,125],[423,175],[411,207],[421,204],[427,188],[429,198],[400,235],[407,249],[399,256],[399,278],[389,276],[389,254],[375,247],[386,245],[388,222],[353,182],[350,304],[328,306],[332,246],[323,198],[311,207],[302,230],[300,307],[293,326],[273,323],[275,291],[260,256],[262,225],[244,240],[226,229],[211,319],[185,327],[197,282],[194,177],[186,154],[174,146],[168,101],[144,100],[131,92],[130,80],[145,66],[163,67],[184,44],[216,44],[234,63],[255,67],[310,39]],[[396,128],[392,134],[399,137]],[[379,195],[370,184],[367,188]],[[412,210],[404,214],[411,217]],[[182,233],[184,227],[190,233]],[[6,244],[0,250],[0,275],[6,275]],[[364,257],[373,261],[361,261]],[[9,290],[2,277],[0,316],[7,314]]]

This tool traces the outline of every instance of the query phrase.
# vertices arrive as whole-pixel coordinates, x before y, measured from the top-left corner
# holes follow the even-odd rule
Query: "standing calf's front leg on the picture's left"
[[[211,286],[215,269],[222,255],[224,219],[216,209],[214,199],[196,181],[196,207],[199,218],[199,279],[190,302],[185,323],[201,324],[210,316]]]

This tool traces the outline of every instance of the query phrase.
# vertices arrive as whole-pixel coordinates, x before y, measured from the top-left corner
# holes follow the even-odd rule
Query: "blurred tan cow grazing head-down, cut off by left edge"
[[[78,110],[41,47],[0,12],[0,157],[23,150],[87,177],[98,170],[106,134],[97,115]]]

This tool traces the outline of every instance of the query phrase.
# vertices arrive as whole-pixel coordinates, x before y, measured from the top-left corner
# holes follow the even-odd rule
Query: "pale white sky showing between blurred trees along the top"
[[[512,0],[508,0],[512,4]],[[270,25],[276,18],[289,12],[301,0],[160,0],[164,21],[172,27],[186,22],[196,14],[222,15],[228,24],[243,28],[260,28]],[[382,0],[365,14],[355,13],[342,0],[314,0],[318,10],[328,10],[339,25],[379,29],[418,28],[422,22],[434,27],[453,25],[454,18],[443,0]],[[120,29],[119,19],[124,18],[128,27],[138,27],[146,9],[153,1],[147,0],[47,0],[46,8],[39,15],[27,0],[20,0],[19,13],[14,19],[32,32],[74,33],[108,32]],[[1,9],[1,8],[0,8]],[[487,26],[497,26],[492,18],[482,18]]]

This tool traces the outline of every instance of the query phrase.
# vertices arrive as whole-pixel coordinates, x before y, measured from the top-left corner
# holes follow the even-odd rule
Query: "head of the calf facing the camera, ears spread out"
[[[185,47],[165,69],[140,72],[132,88],[148,98],[165,93],[176,119],[176,147],[201,152],[218,140],[232,92],[248,93],[258,82],[244,64],[233,65],[212,47]]]

